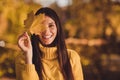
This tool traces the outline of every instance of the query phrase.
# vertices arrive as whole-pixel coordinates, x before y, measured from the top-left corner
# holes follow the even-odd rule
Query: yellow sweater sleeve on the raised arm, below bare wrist
[[[23,54],[15,58],[16,80],[39,80],[34,64],[25,64]]]

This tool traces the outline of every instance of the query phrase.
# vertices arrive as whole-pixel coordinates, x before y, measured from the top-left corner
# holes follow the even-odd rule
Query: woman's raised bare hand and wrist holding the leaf
[[[27,32],[23,33],[18,39],[18,46],[22,49],[25,55],[26,64],[32,64],[32,44]]]

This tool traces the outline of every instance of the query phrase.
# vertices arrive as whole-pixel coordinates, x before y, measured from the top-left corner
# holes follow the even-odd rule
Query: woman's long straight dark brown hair
[[[57,36],[54,42],[51,45],[57,46],[57,55],[58,62],[61,68],[61,72],[63,74],[64,80],[74,80],[70,60],[68,57],[67,48],[65,45],[64,33],[61,27],[61,23],[56,12],[48,7],[40,8],[35,15],[39,15],[44,13],[46,16],[52,18],[57,26]],[[42,70],[44,70],[41,62],[42,52],[39,48],[39,38],[36,35],[31,36],[32,46],[33,46],[33,64],[35,65],[35,69],[38,73],[39,79],[43,80]]]

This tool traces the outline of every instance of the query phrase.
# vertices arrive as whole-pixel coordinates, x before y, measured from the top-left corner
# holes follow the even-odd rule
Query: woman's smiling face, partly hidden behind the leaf
[[[55,21],[48,16],[45,16],[45,20],[42,24],[44,24],[44,30],[40,32],[39,38],[43,45],[49,45],[56,38],[57,27]]]

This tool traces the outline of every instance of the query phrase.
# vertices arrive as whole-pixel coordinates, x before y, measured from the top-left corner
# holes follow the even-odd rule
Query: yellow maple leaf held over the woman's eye
[[[25,31],[27,31],[28,34],[39,34],[39,32],[45,28],[44,24],[42,24],[44,20],[45,14],[34,16],[34,13],[30,12],[25,21]]]

